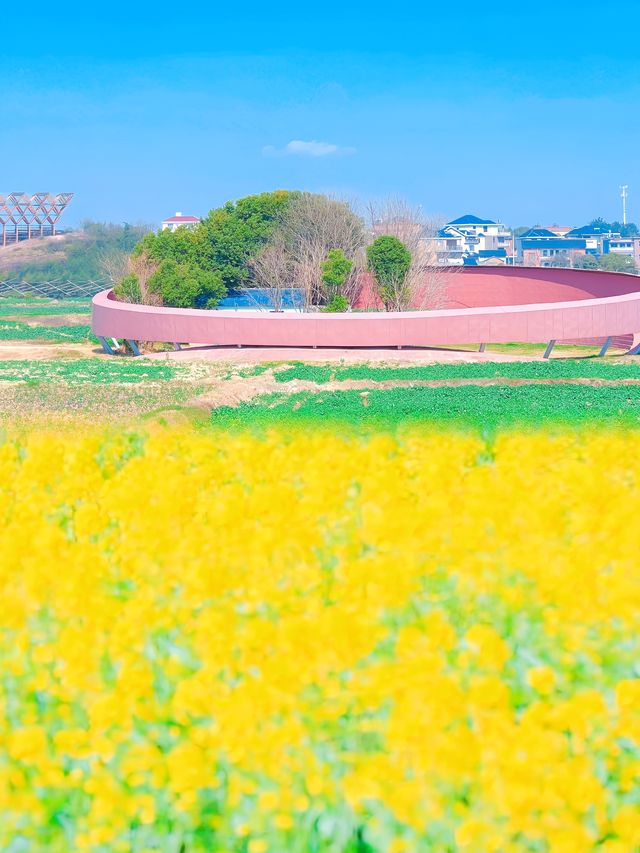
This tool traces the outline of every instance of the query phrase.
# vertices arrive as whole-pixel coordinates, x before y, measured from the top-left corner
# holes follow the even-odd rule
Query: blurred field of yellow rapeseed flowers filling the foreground
[[[0,445],[0,850],[640,849],[640,433]]]

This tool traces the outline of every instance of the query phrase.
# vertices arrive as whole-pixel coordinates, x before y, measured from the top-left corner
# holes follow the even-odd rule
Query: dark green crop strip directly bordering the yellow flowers
[[[431,423],[493,432],[541,425],[638,425],[640,387],[582,385],[393,388],[269,394],[212,413],[227,428],[290,426],[395,429]]]

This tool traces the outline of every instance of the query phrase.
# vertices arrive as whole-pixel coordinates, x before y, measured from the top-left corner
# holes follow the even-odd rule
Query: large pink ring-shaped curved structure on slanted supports
[[[363,290],[366,290],[366,285]],[[366,294],[364,294],[366,297]],[[363,294],[361,299],[364,301]],[[640,277],[587,270],[476,268],[452,273],[435,311],[275,313],[156,308],[93,299],[103,338],[273,347],[428,347],[523,341],[640,340]]]

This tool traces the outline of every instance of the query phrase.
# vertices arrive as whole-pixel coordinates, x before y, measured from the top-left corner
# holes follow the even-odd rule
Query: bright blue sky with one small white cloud
[[[8,4],[0,192],[74,191],[67,224],[285,187],[574,225],[619,217],[626,183],[640,219],[633,13],[216,5]]]

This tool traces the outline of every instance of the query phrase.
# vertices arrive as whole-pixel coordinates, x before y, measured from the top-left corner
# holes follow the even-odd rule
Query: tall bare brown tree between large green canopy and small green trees
[[[280,234],[293,261],[293,280],[303,291],[305,310],[322,300],[321,265],[331,249],[342,249],[356,267],[362,266],[363,222],[345,201],[301,193],[284,214]]]

